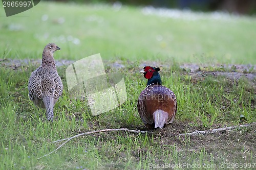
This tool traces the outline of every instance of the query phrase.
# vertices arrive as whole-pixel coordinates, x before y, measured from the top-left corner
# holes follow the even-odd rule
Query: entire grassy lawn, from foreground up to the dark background
[[[168,12],[45,2],[8,18],[1,10],[0,170],[255,169],[255,125],[208,135],[179,134],[256,122],[256,19]],[[53,123],[29,101],[27,90],[48,42],[61,47],[54,57],[64,85]],[[62,63],[97,53],[105,72],[124,76],[127,100],[93,116],[86,99],[69,93],[68,65]],[[177,96],[173,124],[153,134],[80,136],[40,158],[61,144],[53,141],[83,132],[146,131],[137,111],[146,86],[139,70],[145,65],[159,66],[163,85]]]

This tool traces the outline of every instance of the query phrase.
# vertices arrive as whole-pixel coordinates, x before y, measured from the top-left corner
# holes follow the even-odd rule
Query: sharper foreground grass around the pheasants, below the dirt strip
[[[1,68],[0,169],[151,169],[166,163],[214,166],[255,162],[253,128],[219,135],[178,136],[238,125],[240,114],[246,118],[243,124],[256,122],[255,88],[243,78],[188,77],[189,72],[177,65],[161,70],[164,85],[177,95],[178,113],[173,125],[153,135],[106,132],[82,136],[37,160],[59,146],[52,141],[78,133],[108,128],[145,130],[136,105],[146,81],[133,63],[123,69],[106,69],[125,75],[127,101],[112,111],[92,116],[86,101],[75,99],[66,91],[66,66],[59,67],[65,92],[54,108],[55,121],[50,124],[45,111],[38,110],[28,99],[27,82],[35,68]]]

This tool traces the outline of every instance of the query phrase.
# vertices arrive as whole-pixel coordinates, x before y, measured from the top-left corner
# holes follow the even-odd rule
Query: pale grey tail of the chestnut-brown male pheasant
[[[168,113],[163,110],[156,110],[153,113],[153,119],[155,122],[155,128],[163,128],[164,124],[167,122]]]

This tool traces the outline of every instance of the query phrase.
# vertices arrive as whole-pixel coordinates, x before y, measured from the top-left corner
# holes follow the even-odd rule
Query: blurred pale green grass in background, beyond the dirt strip
[[[56,59],[100,53],[105,60],[256,63],[254,17],[220,14],[218,19],[216,14],[216,19],[213,14],[191,12],[175,18],[142,11],[49,2],[10,17],[1,10],[0,54],[7,48],[6,58],[37,59],[47,43],[55,42],[62,49]],[[76,39],[79,44],[73,43]]]

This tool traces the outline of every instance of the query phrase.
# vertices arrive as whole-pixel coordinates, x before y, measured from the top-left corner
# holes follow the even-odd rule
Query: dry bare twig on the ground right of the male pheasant
[[[231,127],[226,127],[226,128],[219,128],[219,129],[211,129],[211,130],[206,130],[206,131],[195,131],[191,133],[181,133],[179,136],[196,136],[196,135],[206,135],[206,134],[211,134],[211,133],[216,133],[216,132],[221,132],[221,131],[227,131],[227,130],[232,130],[236,128],[245,128],[248,126],[255,125],[256,123],[251,123],[251,124],[245,124],[245,125],[237,125],[237,126],[231,126]]]

